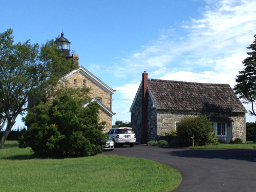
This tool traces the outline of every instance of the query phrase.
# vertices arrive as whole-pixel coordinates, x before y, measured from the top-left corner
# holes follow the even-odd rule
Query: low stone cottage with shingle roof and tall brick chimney
[[[182,118],[197,115],[210,118],[218,139],[246,138],[247,111],[229,84],[147,79],[144,72],[130,112],[136,142],[157,140]]]

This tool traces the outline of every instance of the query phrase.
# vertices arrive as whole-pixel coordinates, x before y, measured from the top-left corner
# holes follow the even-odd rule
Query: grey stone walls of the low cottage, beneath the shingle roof
[[[142,90],[139,91],[137,99],[131,110],[131,124],[136,134],[136,142],[141,142],[141,99]],[[147,132],[148,141],[157,140],[158,136],[163,136],[165,132],[176,130],[176,123],[184,117],[206,115],[210,118],[229,118],[233,122],[227,123],[227,140],[241,138],[246,140],[245,113],[216,113],[216,112],[196,112],[196,111],[159,111],[154,108],[153,101],[148,96],[147,108]],[[221,137],[217,137],[222,139]]]

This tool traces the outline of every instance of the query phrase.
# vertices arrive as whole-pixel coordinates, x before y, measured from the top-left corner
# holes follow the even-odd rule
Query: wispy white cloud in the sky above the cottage
[[[256,33],[256,1],[206,0],[206,3],[199,10],[199,19],[188,18],[181,23],[186,35],[179,36],[172,27],[169,31],[160,30],[155,42],[122,59],[119,73],[125,70],[126,75],[137,78],[147,71],[148,78],[229,83],[233,87],[238,71],[243,69],[246,47]],[[123,98],[133,99],[139,81],[116,89]]]

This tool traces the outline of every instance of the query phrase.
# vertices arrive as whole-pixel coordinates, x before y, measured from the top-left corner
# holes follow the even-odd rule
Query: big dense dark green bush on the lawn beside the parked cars
[[[98,122],[99,105],[82,108],[81,100],[61,95],[52,103],[40,103],[23,118],[28,127],[19,147],[31,147],[35,155],[49,158],[83,157],[102,152],[106,134]]]

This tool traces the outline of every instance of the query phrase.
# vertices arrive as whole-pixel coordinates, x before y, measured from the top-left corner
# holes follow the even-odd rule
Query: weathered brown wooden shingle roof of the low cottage
[[[148,79],[159,110],[246,113],[229,84]]]

